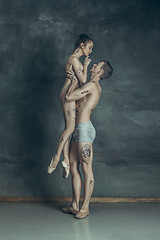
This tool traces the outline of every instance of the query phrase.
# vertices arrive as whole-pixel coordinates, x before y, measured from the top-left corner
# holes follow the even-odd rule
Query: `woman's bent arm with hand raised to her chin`
[[[91,59],[89,57],[85,58],[83,71],[81,70],[81,63],[79,62],[79,60],[77,58],[72,57],[70,61],[72,63],[74,72],[75,72],[78,80],[81,83],[86,83],[86,81],[87,81],[87,68],[88,68],[88,65],[91,62]]]

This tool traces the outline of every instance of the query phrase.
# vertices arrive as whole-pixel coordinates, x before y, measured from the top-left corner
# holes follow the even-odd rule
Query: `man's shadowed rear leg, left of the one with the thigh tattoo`
[[[76,214],[79,211],[82,180],[79,172],[79,158],[76,143],[72,140],[70,145],[70,171],[72,177],[73,199],[71,207],[63,208],[65,213]]]

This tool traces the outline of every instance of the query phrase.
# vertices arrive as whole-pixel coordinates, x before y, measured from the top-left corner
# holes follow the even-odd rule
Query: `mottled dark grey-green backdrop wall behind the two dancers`
[[[93,196],[160,196],[159,11],[145,0],[0,1],[0,196],[71,196],[62,167],[46,171],[64,128],[65,62],[81,33],[94,40],[92,63],[114,68],[92,114]]]

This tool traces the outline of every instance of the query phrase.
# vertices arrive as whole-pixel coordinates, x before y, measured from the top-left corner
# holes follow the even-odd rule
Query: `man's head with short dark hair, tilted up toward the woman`
[[[112,75],[113,68],[109,61],[103,60],[103,62],[93,64],[90,71],[94,75],[99,75],[100,79],[104,79],[109,78]]]

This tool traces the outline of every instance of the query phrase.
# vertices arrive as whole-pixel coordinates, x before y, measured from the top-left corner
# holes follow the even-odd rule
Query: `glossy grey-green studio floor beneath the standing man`
[[[68,203],[0,203],[1,240],[159,240],[160,203],[91,203],[90,215],[64,214]]]

